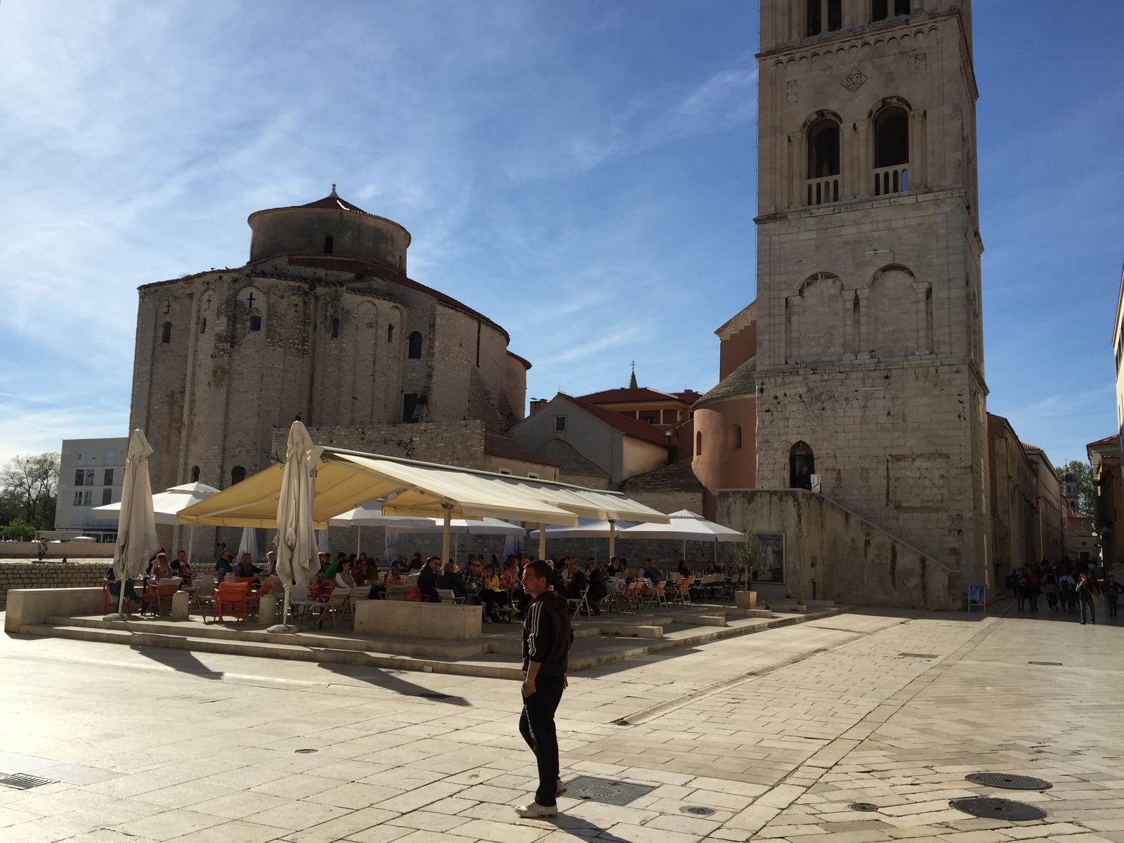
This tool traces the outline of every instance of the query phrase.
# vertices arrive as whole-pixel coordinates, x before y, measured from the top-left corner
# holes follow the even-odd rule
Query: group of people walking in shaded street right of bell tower
[[[1108,617],[1115,618],[1124,593],[1124,584],[1113,574],[1100,580],[1093,568],[1080,570],[1069,562],[1054,565],[1045,560],[1012,571],[1006,586],[1013,591],[1016,611],[1037,613],[1039,600],[1045,596],[1049,611],[1076,613],[1081,624],[1097,623],[1097,606],[1102,601],[1107,606]]]

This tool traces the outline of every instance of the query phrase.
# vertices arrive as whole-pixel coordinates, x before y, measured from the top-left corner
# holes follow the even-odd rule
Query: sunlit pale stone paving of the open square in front
[[[4,636],[0,772],[57,783],[0,787],[0,841],[1124,841],[1122,645],[1104,623],[858,610],[583,671],[563,778],[655,789],[545,822],[511,810],[534,777],[515,682]],[[1048,816],[949,805],[975,795]]]

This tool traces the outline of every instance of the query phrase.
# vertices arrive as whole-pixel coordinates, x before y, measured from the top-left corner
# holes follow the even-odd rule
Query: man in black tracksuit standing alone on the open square
[[[535,800],[515,812],[524,818],[558,816],[558,797],[565,791],[559,778],[559,740],[554,711],[565,689],[570,644],[570,613],[565,600],[550,590],[551,566],[529,562],[523,570],[523,590],[531,605],[523,617],[523,714],[519,734],[538,762],[538,789]]]

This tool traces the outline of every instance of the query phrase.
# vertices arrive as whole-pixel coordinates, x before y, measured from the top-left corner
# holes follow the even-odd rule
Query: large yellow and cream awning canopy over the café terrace
[[[180,511],[182,524],[277,527],[283,465],[271,465]],[[667,524],[662,513],[622,495],[523,480],[452,465],[324,448],[317,461],[312,518],[328,519],[363,504],[381,501],[386,515],[442,518],[502,518],[577,526],[578,517]]]

